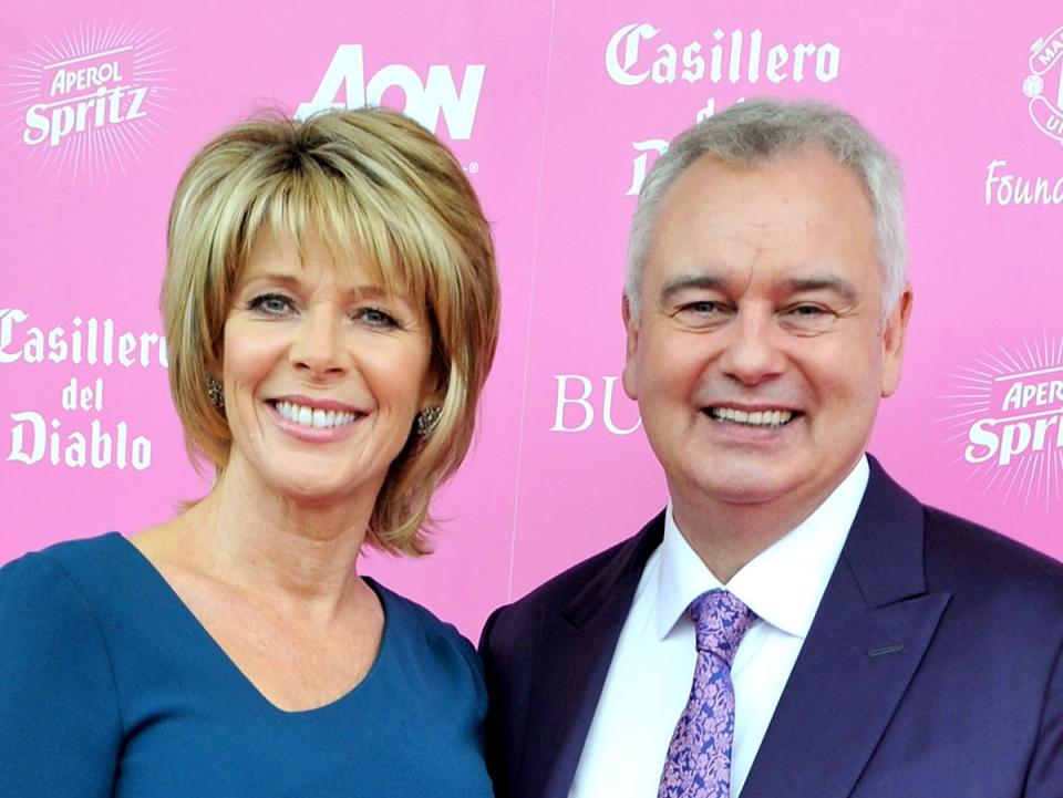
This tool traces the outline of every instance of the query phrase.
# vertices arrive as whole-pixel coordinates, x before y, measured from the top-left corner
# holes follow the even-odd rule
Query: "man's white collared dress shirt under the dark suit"
[[[726,589],[756,613],[734,656],[731,796],[753,766],[867,487],[867,459],[808,518],[734,574]],[[696,650],[690,602],[723,587],[675,526],[650,556],[620,632],[569,798],[654,798]]]

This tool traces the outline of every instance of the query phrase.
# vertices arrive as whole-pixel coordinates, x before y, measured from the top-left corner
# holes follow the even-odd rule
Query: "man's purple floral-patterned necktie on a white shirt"
[[[731,663],[756,615],[725,590],[690,603],[698,664],[690,698],[668,746],[658,798],[729,798],[734,688]]]

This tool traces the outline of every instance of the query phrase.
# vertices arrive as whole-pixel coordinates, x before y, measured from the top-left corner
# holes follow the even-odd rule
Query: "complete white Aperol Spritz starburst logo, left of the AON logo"
[[[9,56],[8,107],[42,168],[109,178],[152,146],[169,111],[173,50],[141,24],[83,24]]]

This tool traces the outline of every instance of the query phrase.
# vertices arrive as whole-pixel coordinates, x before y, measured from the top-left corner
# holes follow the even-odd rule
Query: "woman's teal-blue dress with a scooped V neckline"
[[[283,712],[120,535],[0,569],[3,798],[489,798],[472,645],[370,582],[376,661]]]

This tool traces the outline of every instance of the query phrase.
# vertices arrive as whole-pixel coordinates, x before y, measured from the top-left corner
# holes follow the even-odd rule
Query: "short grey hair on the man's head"
[[[904,179],[897,160],[853,116],[813,102],[751,100],[689,127],[661,155],[639,191],[628,242],[623,294],[638,322],[642,268],[661,200],[677,178],[703,155],[735,166],[760,166],[803,149],[823,148],[860,178],[875,219],[881,267],[883,320],[905,287]]]

